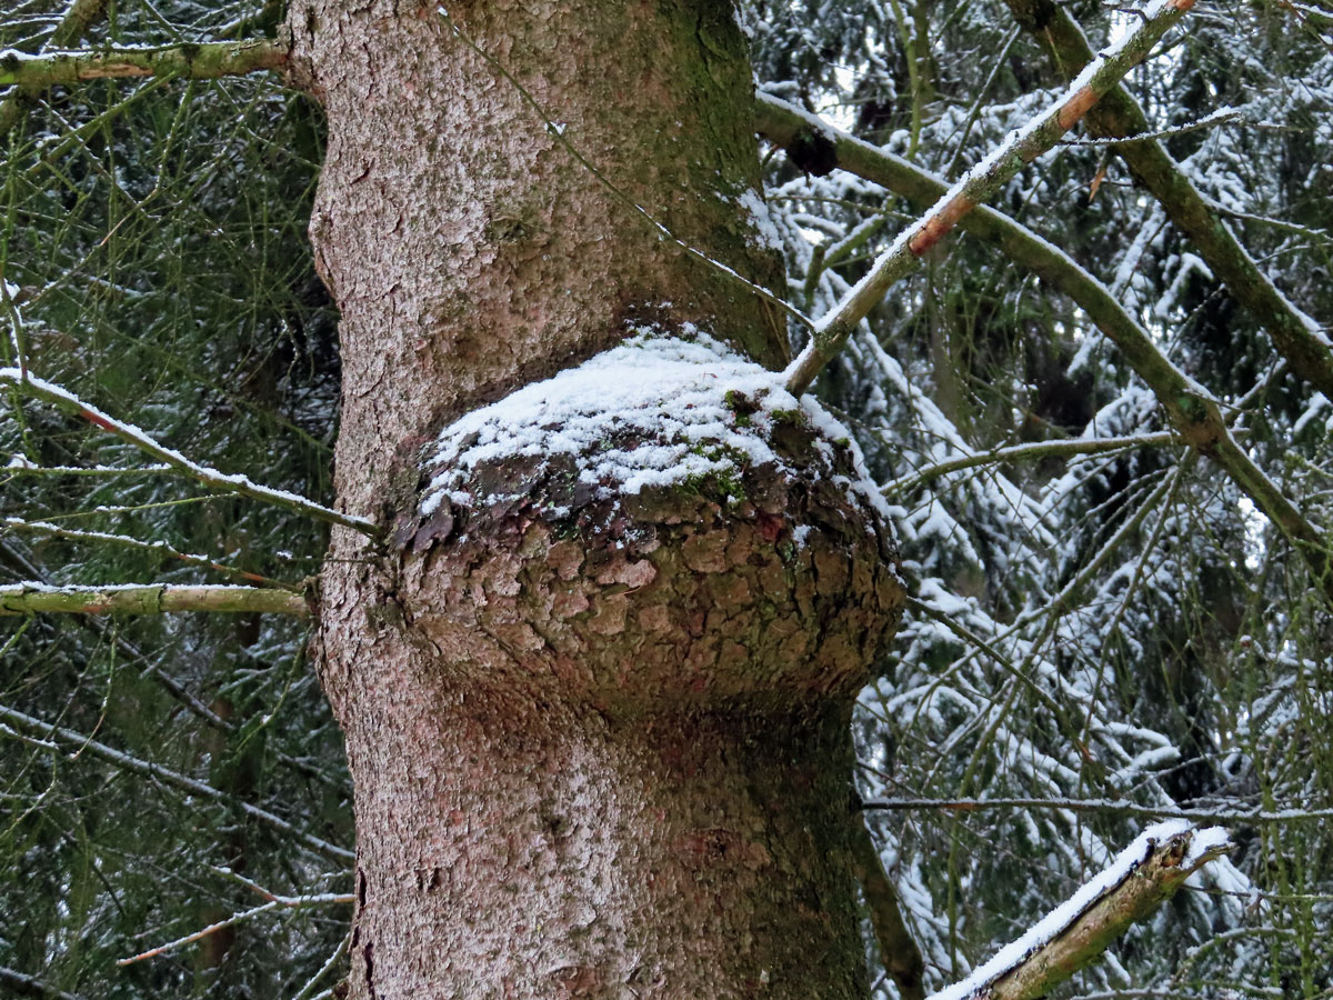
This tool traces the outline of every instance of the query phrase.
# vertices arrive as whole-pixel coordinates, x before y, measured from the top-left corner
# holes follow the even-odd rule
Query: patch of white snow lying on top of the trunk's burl
[[[577,368],[533,383],[440,432],[425,456],[432,472],[421,496],[429,517],[448,497],[467,505],[469,473],[507,457],[579,461],[580,481],[611,499],[644,487],[786,465],[769,447],[774,415],[800,413],[825,437],[845,443],[856,477],[853,501],[889,520],[889,509],[852,435],[813,397],[797,400],[782,373],[749,361],[690,324],[689,339],[639,328],[623,344]],[[741,412],[734,400],[746,400]],[[749,407],[757,408],[750,412]]]

